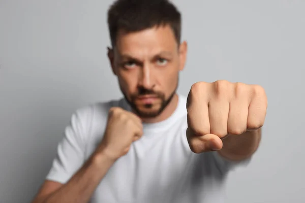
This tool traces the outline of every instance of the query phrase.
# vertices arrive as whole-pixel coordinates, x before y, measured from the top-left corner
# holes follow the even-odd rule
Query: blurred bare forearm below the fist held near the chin
[[[70,181],[50,194],[43,203],[88,202],[93,192],[114,163],[105,154],[94,154]]]

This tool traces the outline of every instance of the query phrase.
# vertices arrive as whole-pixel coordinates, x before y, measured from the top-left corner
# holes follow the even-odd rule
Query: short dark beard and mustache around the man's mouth
[[[165,94],[159,91],[154,91],[152,89],[145,89],[143,87],[139,87],[138,91],[130,96],[130,99],[123,92],[123,95],[130,105],[132,110],[141,118],[155,118],[159,116],[164,109],[168,106],[172,98],[174,97],[177,86],[174,91],[166,98]],[[150,104],[138,104],[137,100],[140,96],[152,95],[154,98],[159,100],[159,103],[150,103]]]

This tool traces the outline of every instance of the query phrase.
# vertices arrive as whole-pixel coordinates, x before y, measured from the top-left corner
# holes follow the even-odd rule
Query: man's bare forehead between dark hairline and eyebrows
[[[116,39],[116,49],[122,55],[154,55],[164,51],[174,52],[178,47],[173,30],[168,25],[137,32],[120,30]]]

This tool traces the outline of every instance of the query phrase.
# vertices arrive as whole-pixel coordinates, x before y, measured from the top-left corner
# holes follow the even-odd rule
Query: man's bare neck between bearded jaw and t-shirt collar
[[[170,103],[166,106],[166,108],[162,111],[162,113],[154,118],[141,118],[144,123],[157,123],[169,118],[174,111],[176,110],[178,105],[178,95],[175,93]]]

